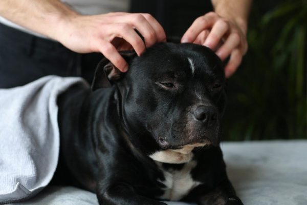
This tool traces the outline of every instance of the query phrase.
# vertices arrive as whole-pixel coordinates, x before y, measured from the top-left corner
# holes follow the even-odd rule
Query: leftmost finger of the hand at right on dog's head
[[[185,34],[181,38],[181,43],[191,43],[193,42],[196,37],[206,29],[212,28],[215,23],[215,20],[218,16],[213,14],[206,14],[204,16],[196,18],[193,24],[188,28]]]

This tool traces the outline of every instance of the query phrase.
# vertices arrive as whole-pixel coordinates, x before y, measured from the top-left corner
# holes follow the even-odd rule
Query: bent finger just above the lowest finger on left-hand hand
[[[113,25],[109,33],[124,38],[129,44],[131,44],[139,56],[146,49],[142,38],[135,32],[133,27],[128,24]]]

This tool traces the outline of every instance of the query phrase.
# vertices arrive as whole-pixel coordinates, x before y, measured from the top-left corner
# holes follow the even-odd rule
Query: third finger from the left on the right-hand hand
[[[226,39],[225,43],[222,45],[220,49],[216,51],[216,55],[220,57],[222,60],[225,60],[230,53],[238,47],[240,44],[240,37],[237,33],[232,33]]]

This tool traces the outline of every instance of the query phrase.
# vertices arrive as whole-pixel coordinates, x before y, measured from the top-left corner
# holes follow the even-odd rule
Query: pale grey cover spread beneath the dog
[[[224,142],[230,180],[246,205],[307,204],[307,140]],[[169,205],[186,205],[167,202]],[[96,195],[72,187],[47,187],[16,205],[97,205]]]

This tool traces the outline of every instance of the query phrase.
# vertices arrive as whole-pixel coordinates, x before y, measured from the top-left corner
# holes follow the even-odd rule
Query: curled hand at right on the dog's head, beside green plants
[[[222,60],[230,56],[225,66],[226,77],[236,71],[248,48],[246,28],[238,25],[234,19],[223,18],[214,12],[196,18],[181,42],[207,46]]]

